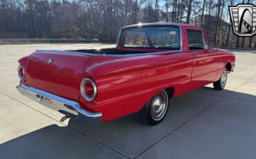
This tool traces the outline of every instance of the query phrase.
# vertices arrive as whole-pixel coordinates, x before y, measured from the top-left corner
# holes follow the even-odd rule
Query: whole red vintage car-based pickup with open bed
[[[197,26],[152,23],[120,30],[116,48],[37,50],[19,59],[17,90],[89,124],[140,111],[150,125],[170,98],[213,83],[221,90],[235,55],[213,49]]]

